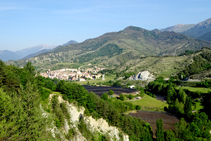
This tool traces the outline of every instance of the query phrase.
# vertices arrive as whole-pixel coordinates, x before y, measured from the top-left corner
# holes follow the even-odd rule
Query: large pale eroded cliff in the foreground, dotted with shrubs
[[[51,104],[51,100],[52,97],[56,95],[56,94],[50,94],[49,96],[49,104]],[[115,126],[109,126],[108,122],[102,118],[100,119],[94,119],[91,116],[85,116],[84,115],[84,111],[85,108],[84,107],[78,107],[73,103],[69,103],[68,101],[65,101],[62,96],[58,96],[58,102],[60,103],[65,103],[66,104],[66,108],[67,108],[67,112],[70,115],[70,119],[64,119],[64,125],[63,128],[58,129],[55,125],[54,122],[52,122],[51,125],[49,125],[49,127],[47,128],[47,131],[51,132],[51,135],[53,136],[53,138],[55,140],[57,140],[58,138],[56,137],[59,135],[61,140],[67,141],[67,139],[65,138],[65,136],[68,134],[69,130],[74,129],[76,131],[75,135],[72,137],[72,141],[87,141],[88,139],[86,139],[82,133],[80,133],[79,129],[78,129],[78,123],[79,123],[79,118],[83,117],[86,126],[88,127],[88,130],[91,131],[91,133],[100,133],[102,135],[108,136],[110,141],[119,141],[122,140],[123,141],[129,141],[129,136],[126,135],[125,133],[122,133],[122,131],[120,129],[118,129]],[[48,113],[46,113],[43,109],[42,106],[40,106],[40,109],[43,112],[43,117],[48,118],[49,115]],[[120,133],[122,133],[123,138],[120,139]]]

